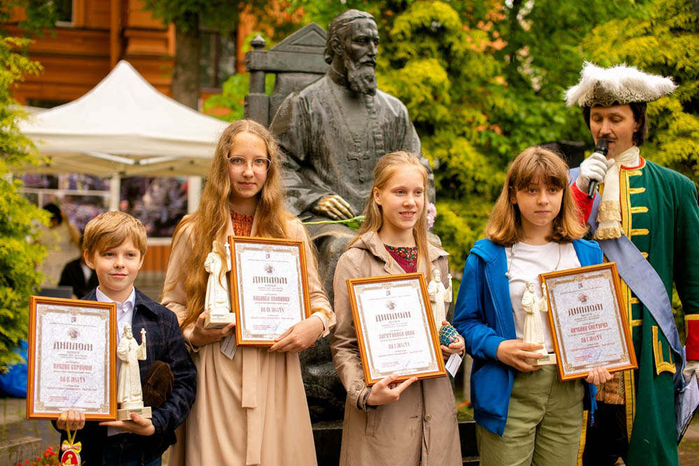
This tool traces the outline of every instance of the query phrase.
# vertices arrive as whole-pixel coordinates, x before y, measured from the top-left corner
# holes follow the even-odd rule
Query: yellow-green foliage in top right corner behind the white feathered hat
[[[656,0],[648,19],[622,18],[596,27],[585,57],[672,76],[674,94],[648,106],[649,137],[641,153],[699,182],[699,15],[684,0]],[[652,53],[649,53],[652,50]]]

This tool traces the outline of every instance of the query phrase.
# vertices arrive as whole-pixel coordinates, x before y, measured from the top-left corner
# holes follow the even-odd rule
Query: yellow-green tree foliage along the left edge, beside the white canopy
[[[36,222],[48,223],[48,213],[24,199],[20,182],[11,176],[13,169],[36,160],[34,144],[17,127],[25,115],[10,96],[23,75],[41,70],[15,52],[27,44],[26,39],[0,38],[0,370],[17,362],[13,349],[27,339],[29,295],[42,279],[35,265],[45,255],[45,248],[32,240]]]

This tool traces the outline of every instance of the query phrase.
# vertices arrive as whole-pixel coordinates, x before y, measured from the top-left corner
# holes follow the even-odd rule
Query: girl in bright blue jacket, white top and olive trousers
[[[524,150],[464,267],[454,326],[473,356],[471,402],[481,465],[575,465],[583,409],[594,409],[595,369],[586,381],[559,381],[556,365],[532,365],[542,345],[522,341],[527,283],[539,274],[602,262],[597,243],[584,241],[568,186],[568,166],[540,147]],[[543,317],[543,316],[542,316]],[[548,321],[545,345],[553,353]],[[585,405],[585,406],[584,406]]]

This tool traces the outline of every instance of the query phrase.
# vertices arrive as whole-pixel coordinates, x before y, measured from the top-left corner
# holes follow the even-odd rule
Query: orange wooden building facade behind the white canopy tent
[[[78,99],[102,80],[120,59],[126,59],[157,90],[171,96],[175,27],[164,24],[143,9],[142,0],[59,0],[64,20],[54,29],[34,36],[29,57],[43,65],[39,76],[26,76],[13,95],[20,104],[52,107]],[[17,22],[24,11],[14,8],[10,36],[22,36]],[[222,81],[245,70],[238,44],[250,34],[252,16],[241,15],[237,31],[221,37],[201,31],[202,59],[199,64],[201,97],[220,92]],[[214,73],[215,76],[210,76]]]

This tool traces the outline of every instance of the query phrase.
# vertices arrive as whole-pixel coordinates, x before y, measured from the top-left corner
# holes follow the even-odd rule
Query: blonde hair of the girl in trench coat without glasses
[[[412,227],[412,235],[415,237],[415,244],[417,244],[417,268],[420,268],[421,263],[427,264],[427,269],[429,271],[429,255],[428,255],[428,243],[427,237],[427,183],[428,183],[428,173],[427,169],[423,164],[420,163],[417,155],[405,152],[403,150],[398,150],[397,152],[391,152],[384,155],[376,162],[374,167],[374,183],[369,192],[366,201],[364,202],[364,222],[359,228],[359,234],[352,240],[352,243],[357,241],[360,236],[367,232],[378,232],[384,225],[384,216],[382,212],[382,207],[376,204],[374,200],[374,188],[382,190],[386,187],[387,183],[396,174],[396,171],[402,167],[406,166],[415,167],[422,176],[422,183],[424,185],[424,196],[425,202],[420,212],[420,216],[417,218],[417,223]],[[352,243],[349,243],[351,246]]]

